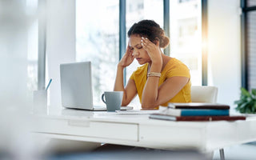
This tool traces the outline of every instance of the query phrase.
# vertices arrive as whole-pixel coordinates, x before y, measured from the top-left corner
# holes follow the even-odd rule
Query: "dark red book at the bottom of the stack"
[[[246,120],[245,116],[170,116],[166,114],[150,114],[151,119],[167,121],[237,121]]]

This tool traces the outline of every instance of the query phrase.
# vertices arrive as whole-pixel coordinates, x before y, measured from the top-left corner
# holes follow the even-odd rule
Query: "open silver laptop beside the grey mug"
[[[93,86],[90,62],[73,62],[60,65],[62,106],[82,110],[106,110],[93,105]],[[122,106],[121,110],[133,107]]]

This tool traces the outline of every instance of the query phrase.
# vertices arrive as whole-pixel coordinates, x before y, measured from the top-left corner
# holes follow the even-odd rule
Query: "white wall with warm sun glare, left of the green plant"
[[[240,0],[208,0],[208,85],[234,107],[241,86]]]

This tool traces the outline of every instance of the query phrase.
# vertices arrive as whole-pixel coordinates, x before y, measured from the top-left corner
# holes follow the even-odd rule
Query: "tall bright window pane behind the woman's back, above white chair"
[[[190,68],[192,85],[202,85],[201,1],[170,1],[170,57]]]

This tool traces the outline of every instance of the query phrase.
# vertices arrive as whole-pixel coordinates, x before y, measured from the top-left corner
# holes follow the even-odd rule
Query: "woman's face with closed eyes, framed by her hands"
[[[142,47],[142,37],[138,34],[133,34],[129,38],[129,47],[133,51],[134,58],[137,59],[140,65],[146,62],[151,62],[149,54]]]

